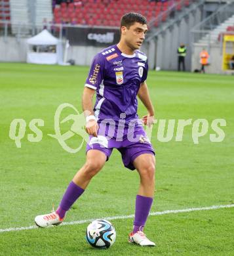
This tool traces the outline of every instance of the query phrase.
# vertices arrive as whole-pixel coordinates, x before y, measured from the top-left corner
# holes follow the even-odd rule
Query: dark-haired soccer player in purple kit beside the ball
[[[147,110],[144,124],[152,125],[154,109],[147,89],[147,57],[139,51],[147,32],[144,16],[130,12],[121,18],[121,39],[117,45],[96,54],[83,91],[82,105],[86,130],[90,135],[87,160],[69,184],[58,209],[35,217],[37,226],[62,223],[71,205],[83,194],[88,183],[117,148],[130,170],[140,175],[136,196],[134,226],[128,241],[142,246],[154,246],[144,234],[155,190],[155,153],[137,115],[137,96]],[[92,98],[96,93],[96,103]],[[109,126],[106,123],[109,123]],[[109,130],[106,129],[109,127]],[[108,130],[108,131],[107,131]],[[111,135],[110,135],[111,133]]]

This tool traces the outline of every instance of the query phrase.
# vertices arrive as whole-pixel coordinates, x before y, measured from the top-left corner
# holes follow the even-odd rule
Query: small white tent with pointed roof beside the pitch
[[[27,40],[29,45],[27,62],[36,64],[56,64],[58,63],[58,43],[59,40],[51,35],[47,30],[31,37]]]

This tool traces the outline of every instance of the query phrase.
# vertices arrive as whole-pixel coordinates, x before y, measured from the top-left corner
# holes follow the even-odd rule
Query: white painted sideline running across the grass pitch
[[[165,214],[170,214],[170,213],[187,213],[189,211],[206,211],[206,210],[231,208],[231,207],[234,207],[234,203],[227,204],[227,205],[212,205],[212,206],[208,206],[208,207],[188,208],[188,209],[180,209],[180,210],[155,211],[154,213],[149,213],[149,216],[165,215]],[[111,221],[113,219],[132,219],[132,218],[134,218],[133,214],[132,215],[105,217],[105,218],[99,218],[99,219],[106,219],[107,221]],[[62,223],[61,225],[83,224],[83,223],[90,223],[92,221],[94,221],[94,219],[86,219],[83,221],[71,221],[69,223]],[[29,229],[35,229],[35,228],[38,228],[38,226],[33,225],[33,226],[22,226],[20,228],[6,228],[6,229],[0,229],[0,233],[10,232],[10,231],[29,230]]]

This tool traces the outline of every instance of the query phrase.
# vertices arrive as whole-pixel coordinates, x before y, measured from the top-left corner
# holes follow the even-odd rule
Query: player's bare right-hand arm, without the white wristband
[[[155,110],[149,97],[149,90],[146,81],[141,83],[140,89],[138,91],[138,97],[140,98],[148,112],[147,116],[142,117],[142,121],[144,122],[145,125],[147,124],[150,127],[153,124]]]

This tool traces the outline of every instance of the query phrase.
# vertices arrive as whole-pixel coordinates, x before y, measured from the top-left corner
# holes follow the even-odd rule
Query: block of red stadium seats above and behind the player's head
[[[56,24],[81,24],[88,26],[119,26],[121,16],[126,12],[140,12],[147,20],[157,17],[165,12],[173,3],[172,1],[149,0],[73,0],[54,1],[53,13]],[[183,2],[189,5],[189,0]],[[176,6],[177,11],[182,9],[182,4]],[[163,21],[168,18],[166,12]],[[157,26],[157,24],[155,24]]]

